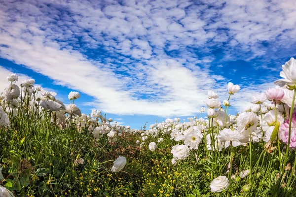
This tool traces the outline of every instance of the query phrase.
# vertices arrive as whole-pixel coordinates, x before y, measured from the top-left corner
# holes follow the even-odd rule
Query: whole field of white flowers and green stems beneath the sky
[[[9,74],[0,94],[0,197],[296,196],[296,60],[275,88],[228,114],[209,90],[200,114],[134,130],[99,110],[82,114]],[[204,117],[206,115],[207,117]]]

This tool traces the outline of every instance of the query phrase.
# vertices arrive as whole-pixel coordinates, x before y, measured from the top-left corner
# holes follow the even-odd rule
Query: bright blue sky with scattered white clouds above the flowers
[[[0,0],[0,88],[31,77],[83,113],[139,129],[199,115],[207,91],[231,113],[296,57],[295,0]]]

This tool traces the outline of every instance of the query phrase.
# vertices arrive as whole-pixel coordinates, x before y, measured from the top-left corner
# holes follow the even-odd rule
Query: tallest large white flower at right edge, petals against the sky
[[[285,65],[282,65],[282,71],[280,72],[280,76],[284,79],[279,79],[274,83],[281,87],[285,86],[286,84],[289,86],[296,85],[296,60],[291,58]]]

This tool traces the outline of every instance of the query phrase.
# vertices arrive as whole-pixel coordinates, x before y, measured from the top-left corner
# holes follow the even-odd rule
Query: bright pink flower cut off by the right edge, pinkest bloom
[[[287,144],[289,140],[289,119],[290,118],[288,117],[288,119],[280,126],[282,141]],[[296,111],[292,115],[290,149],[296,150]]]

